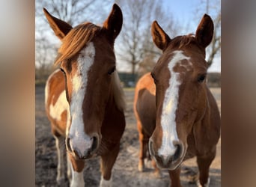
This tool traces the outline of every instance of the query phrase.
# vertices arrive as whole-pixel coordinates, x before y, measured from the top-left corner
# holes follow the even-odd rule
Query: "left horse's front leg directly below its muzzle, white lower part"
[[[84,187],[84,167],[85,161],[84,160],[76,160],[70,153],[68,153],[68,159],[70,159],[71,163],[71,173],[72,173],[72,180],[70,183],[70,187]]]

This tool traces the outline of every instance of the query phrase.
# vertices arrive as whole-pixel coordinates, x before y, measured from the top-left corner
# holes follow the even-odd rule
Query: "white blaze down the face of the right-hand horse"
[[[176,130],[176,110],[179,100],[179,86],[181,84],[179,77],[180,73],[174,72],[174,67],[182,60],[189,60],[189,57],[183,55],[182,51],[173,52],[173,58],[168,64],[168,70],[171,73],[169,79],[169,87],[165,91],[165,98],[162,105],[162,145],[158,150],[159,155],[170,156],[174,155],[176,147],[173,141],[178,141]]]

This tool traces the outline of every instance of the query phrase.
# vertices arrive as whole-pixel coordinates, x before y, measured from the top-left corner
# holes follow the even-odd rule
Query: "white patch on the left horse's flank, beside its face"
[[[67,111],[67,117],[69,117],[69,105],[66,98],[66,91],[62,91],[61,94],[58,96],[57,101],[53,105],[49,106],[49,114],[52,118],[56,120],[61,120],[61,114]]]

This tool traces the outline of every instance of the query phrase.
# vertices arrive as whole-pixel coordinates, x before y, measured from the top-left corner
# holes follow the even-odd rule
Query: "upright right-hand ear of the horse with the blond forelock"
[[[118,4],[113,4],[112,11],[109,17],[103,23],[103,28],[109,37],[110,42],[114,43],[115,38],[121,31],[123,25],[123,13]]]

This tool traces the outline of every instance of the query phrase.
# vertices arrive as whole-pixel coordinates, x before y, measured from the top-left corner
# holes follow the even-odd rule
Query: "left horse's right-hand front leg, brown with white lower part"
[[[100,179],[100,187],[110,187],[112,186],[112,168],[115,164],[115,160],[118,157],[119,146],[117,144],[113,150],[110,150],[109,153],[101,156],[100,162],[100,171],[101,171],[101,179]]]

